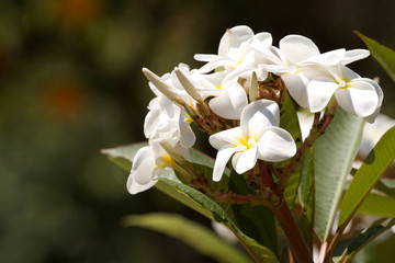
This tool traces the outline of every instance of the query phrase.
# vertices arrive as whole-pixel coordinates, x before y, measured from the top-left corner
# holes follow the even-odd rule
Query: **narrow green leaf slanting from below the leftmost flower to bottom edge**
[[[224,222],[226,226],[228,226],[230,229],[233,229],[236,237],[240,240],[240,242],[245,245],[247,251],[253,256],[253,259],[257,262],[261,263],[276,263],[276,258],[274,253],[258,243],[252,238],[248,237],[246,233],[244,233],[236,225],[235,219],[230,214],[225,210],[219,204],[208,198],[203,193],[199,192],[195,188],[192,188],[191,186],[188,186],[185,184],[178,183],[176,181],[171,181],[168,179],[159,179],[159,181],[163,181],[168,183],[169,185],[172,185],[174,188],[177,188],[180,193],[184,193],[188,195],[191,199],[193,199],[196,204],[201,205],[205,209],[210,210],[212,213],[212,217],[215,218],[216,221]]]

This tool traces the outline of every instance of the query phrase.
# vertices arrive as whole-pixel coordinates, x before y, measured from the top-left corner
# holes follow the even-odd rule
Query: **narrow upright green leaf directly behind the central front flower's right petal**
[[[298,148],[302,145],[302,133],[294,104],[287,93],[285,94],[284,102],[281,107],[280,116],[281,116],[280,127],[286,129],[292,135],[292,138],[295,140],[296,147]],[[287,162],[289,161],[282,162],[280,165],[283,165]],[[286,183],[285,192],[284,192],[286,204],[291,209],[295,203],[300,183],[301,183],[301,169],[298,168],[291,175],[289,182]]]

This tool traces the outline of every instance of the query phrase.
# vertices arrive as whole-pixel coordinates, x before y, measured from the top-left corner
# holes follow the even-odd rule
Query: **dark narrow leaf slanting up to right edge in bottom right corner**
[[[385,219],[380,219],[373,222],[371,227],[358,231],[352,238],[341,240],[337,244],[334,251],[334,255],[335,256],[342,255],[342,259],[345,259],[345,261],[341,262],[349,262],[358,251],[363,249],[366,244],[373,241],[379,235],[390,229],[394,225],[395,225],[395,219],[387,220],[386,222]]]

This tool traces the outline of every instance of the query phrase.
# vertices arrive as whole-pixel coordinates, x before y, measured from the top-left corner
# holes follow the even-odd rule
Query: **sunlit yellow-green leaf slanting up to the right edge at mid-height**
[[[348,224],[394,158],[395,127],[392,127],[382,136],[353,176],[341,204],[339,227]]]

